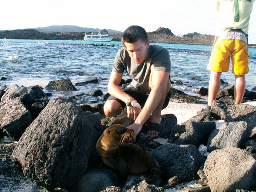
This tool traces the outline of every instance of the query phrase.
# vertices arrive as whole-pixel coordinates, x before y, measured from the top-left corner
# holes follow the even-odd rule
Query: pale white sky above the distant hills
[[[215,0],[1,0],[0,30],[77,25],[124,31],[139,25],[147,32],[165,27],[175,35],[213,35],[216,14]],[[249,44],[256,44],[256,5]]]

